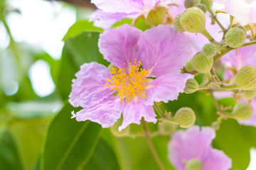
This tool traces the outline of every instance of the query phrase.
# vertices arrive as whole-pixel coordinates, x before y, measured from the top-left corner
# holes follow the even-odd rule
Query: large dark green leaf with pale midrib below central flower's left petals
[[[50,124],[42,169],[83,169],[90,160],[100,137],[101,126],[71,119],[73,110],[67,104]]]

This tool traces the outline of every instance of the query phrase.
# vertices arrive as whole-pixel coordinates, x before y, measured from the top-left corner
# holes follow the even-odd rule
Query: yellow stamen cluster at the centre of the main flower
[[[113,76],[111,79],[107,79],[108,82],[105,86],[110,88],[110,91],[117,91],[117,95],[123,100],[124,98],[132,98],[144,91],[149,70],[142,69],[142,62],[137,64],[135,60],[134,64],[129,63],[129,74],[123,68],[112,68],[111,73]]]

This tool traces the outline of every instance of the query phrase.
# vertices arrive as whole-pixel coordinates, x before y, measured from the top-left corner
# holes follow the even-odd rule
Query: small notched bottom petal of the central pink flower
[[[146,122],[156,123],[156,114],[152,106],[145,106],[142,98],[139,98],[139,101],[130,101],[124,108],[123,122],[122,125],[119,126],[119,131],[123,130],[131,123],[139,125],[142,117]]]

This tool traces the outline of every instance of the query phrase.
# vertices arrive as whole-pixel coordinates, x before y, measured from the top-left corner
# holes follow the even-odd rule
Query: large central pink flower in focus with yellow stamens
[[[176,100],[186,81],[193,78],[180,73],[193,57],[190,41],[170,26],[159,25],[143,33],[124,24],[101,34],[98,45],[115,67],[110,72],[96,62],[85,63],[75,74],[69,101],[82,107],[73,113],[78,121],[91,120],[108,128],[122,113],[119,130],[140,124],[142,117],[156,123],[154,101]]]

